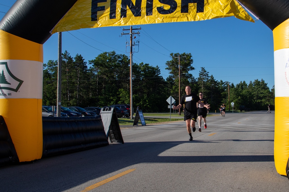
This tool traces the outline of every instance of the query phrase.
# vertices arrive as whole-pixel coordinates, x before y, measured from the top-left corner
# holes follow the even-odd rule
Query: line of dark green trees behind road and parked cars
[[[234,85],[217,81],[204,67],[201,67],[199,77],[194,77],[190,74],[195,70],[190,53],[172,53],[171,58],[166,62],[170,74],[166,79],[161,76],[158,66],[132,64],[134,109],[140,106],[144,112],[168,112],[166,99],[169,96],[173,96],[177,104],[179,102],[179,80],[181,96],[185,94],[185,86],[190,85],[193,93],[203,92],[211,110],[219,110],[222,103],[228,110],[232,101],[234,108],[244,105],[251,110],[266,110],[268,104],[274,104],[274,87],[270,90],[263,79]],[[103,52],[88,61],[90,67],[84,60],[79,54],[75,57],[67,51],[62,54],[62,106],[103,107],[130,103],[130,60],[126,55]],[[43,105],[56,105],[57,73],[57,60],[43,64]]]

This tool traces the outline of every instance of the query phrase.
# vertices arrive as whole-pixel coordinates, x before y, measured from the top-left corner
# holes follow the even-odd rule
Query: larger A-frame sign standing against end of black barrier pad
[[[115,108],[114,107],[101,108],[100,115],[101,120],[103,122],[106,137],[110,138],[110,142],[121,142],[122,144],[124,144]]]

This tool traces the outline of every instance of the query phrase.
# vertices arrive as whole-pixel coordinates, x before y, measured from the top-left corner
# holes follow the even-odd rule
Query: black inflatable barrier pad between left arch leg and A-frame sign
[[[42,117],[42,157],[108,145],[101,116]]]

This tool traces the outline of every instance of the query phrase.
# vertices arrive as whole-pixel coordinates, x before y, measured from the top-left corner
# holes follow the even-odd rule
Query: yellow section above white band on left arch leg
[[[0,45],[0,60],[31,60],[43,63],[43,45],[41,44],[0,30]]]

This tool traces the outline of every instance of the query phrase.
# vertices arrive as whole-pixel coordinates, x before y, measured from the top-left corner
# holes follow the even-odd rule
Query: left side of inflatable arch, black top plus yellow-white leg
[[[20,162],[42,156],[43,43],[76,1],[16,1],[0,21],[0,74],[12,77],[0,81],[0,115]]]

